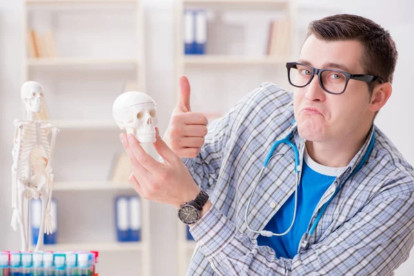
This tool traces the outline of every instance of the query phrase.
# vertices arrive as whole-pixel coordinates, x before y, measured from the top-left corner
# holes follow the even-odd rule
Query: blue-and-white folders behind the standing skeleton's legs
[[[50,211],[52,213],[53,221],[55,221],[55,226],[53,227],[52,234],[46,235],[43,234],[43,244],[56,244],[57,239],[57,204],[56,199],[52,199],[50,202]],[[39,237],[40,223],[41,223],[41,200],[32,199],[30,201],[30,222],[32,225],[32,244],[35,246],[37,244],[37,239]]]

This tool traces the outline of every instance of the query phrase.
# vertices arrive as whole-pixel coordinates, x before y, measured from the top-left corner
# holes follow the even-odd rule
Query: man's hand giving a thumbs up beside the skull
[[[179,157],[193,158],[204,145],[208,120],[204,114],[191,111],[190,83],[187,77],[179,78],[179,87],[179,99],[163,139]]]

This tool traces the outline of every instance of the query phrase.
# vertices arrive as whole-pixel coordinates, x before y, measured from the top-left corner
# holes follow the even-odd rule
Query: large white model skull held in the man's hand
[[[143,92],[124,92],[115,99],[112,116],[121,130],[135,135],[140,143],[154,143],[158,124],[155,101]]]

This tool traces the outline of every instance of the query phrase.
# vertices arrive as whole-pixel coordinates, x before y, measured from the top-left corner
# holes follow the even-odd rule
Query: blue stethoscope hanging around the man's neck
[[[297,146],[295,144],[293,144],[292,141],[290,141],[290,138],[292,137],[292,133],[293,133],[293,131],[290,132],[288,134],[288,136],[285,137],[284,139],[275,141],[272,148],[270,148],[270,152],[268,153],[268,156],[266,157],[266,160],[264,161],[264,165],[263,165],[262,169],[259,171],[259,177],[257,178],[257,181],[255,183],[255,187],[253,188],[253,192],[250,195],[250,198],[248,199],[248,203],[247,203],[247,207],[246,207],[246,213],[244,215],[244,222],[246,223],[246,226],[247,226],[248,230],[252,231],[253,233],[260,234],[264,237],[284,236],[287,233],[289,233],[290,229],[293,227],[293,224],[295,222],[296,209],[297,209],[297,186],[299,186],[299,172],[301,172],[302,167],[299,165],[299,150],[297,150]],[[364,157],[362,157],[361,161],[359,161],[358,166],[355,168],[355,170],[353,170],[351,175],[349,175],[343,183],[348,181],[348,179],[353,177],[353,175],[355,175],[355,173],[357,173],[358,170],[360,170],[362,168],[362,166],[365,164],[366,159],[368,159],[369,155],[371,154],[371,151],[373,150],[374,143],[375,143],[375,130],[373,130],[373,135],[371,137],[371,141],[368,145],[368,149],[366,150]],[[276,156],[276,155],[273,155],[273,152],[275,151],[277,146],[279,146],[280,144],[288,144],[288,146],[290,146],[290,148],[293,149],[293,152],[295,152],[295,179],[296,179],[295,180],[295,208],[293,210],[292,223],[290,224],[288,230],[286,230],[284,233],[280,233],[280,234],[273,233],[273,232],[268,231],[268,230],[256,231],[256,230],[251,229],[250,226],[248,226],[248,222],[247,222],[248,208],[250,206],[250,201],[252,200],[252,197],[253,197],[253,194],[255,193],[257,185],[259,184],[259,181],[262,177],[263,171],[268,166],[268,163],[269,163],[270,159],[272,159],[274,156]],[[340,185],[340,184],[337,185],[337,188],[335,189],[335,193],[333,193],[332,197],[328,201],[326,201],[326,203],[320,208],[319,213],[318,213],[315,221],[313,222],[311,228],[308,228],[308,230],[306,230],[306,235],[305,235],[306,239],[305,240],[307,240],[308,237],[310,237],[313,234],[313,231],[315,231],[315,228],[316,228],[317,224],[319,223],[319,220],[321,219],[322,215],[324,214],[324,212],[325,212],[326,208],[328,207],[329,203],[332,201],[332,199],[335,197],[335,195],[337,195],[337,193],[339,192],[341,186],[342,185]],[[300,247],[300,245],[299,245],[299,247]]]

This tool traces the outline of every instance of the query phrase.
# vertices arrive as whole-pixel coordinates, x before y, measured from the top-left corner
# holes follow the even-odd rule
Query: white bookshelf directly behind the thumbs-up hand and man
[[[272,14],[270,17],[273,17],[273,12],[277,14],[275,18],[284,17],[284,19],[288,19],[289,26],[290,26],[290,52],[283,56],[268,56],[265,52],[263,53],[257,53],[253,55],[251,52],[244,53],[244,55],[240,55],[239,52],[234,53],[232,50],[226,51],[226,54],[218,53],[219,50],[223,49],[215,49],[212,52],[209,52],[209,39],[210,37],[207,37],[207,46],[206,46],[206,54],[205,55],[185,55],[184,54],[184,42],[183,42],[183,13],[186,8],[190,9],[204,9],[208,13],[207,14],[215,14],[213,15],[213,19],[216,20],[215,22],[208,21],[208,35],[212,31],[212,28],[221,28],[219,26],[219,23],[226,23],[225,20],[229,20],[229,17],[226,17],[224,19],[223,14],[224,12],[240,12],[246,16],[253,12],[267,12],[266,16],[269,16],[268,13]],[[176,61],[176,79],[179,78],[181,75],[187,75],[191,77],[191,74],[193,73],[193,70],[200,70],[201,71],[201,78],[211,78],[208,79],[210,83],[204,83],[199,84],[197,81],[194,81],[189,77],[190,86],[191,86],[191,99],[192,99],[192,110],[196,112],[215,112],[217,113],[217,110],[213,111],[205,111],[205,110],[196,110],[196,108],[193,108],[193,95],[195,97],[199,97],[201,101],[205,99],[204,97],[208,97],[209,95],[197,95],[197,90],[203,90],[205,86],[208,86],[208,89],[205,90],[206,93],[209,92],[209,89],[215,85],[215,77],[217,76],[217,82],[221,79],[226,79],[227,74],[230,74],[231,72],[235,72],[236,70],[244,70],[248,68],[258,68],[258,70],[280,70],[282,74],[286,74],[286,62],[289,61],[289,59],[292,58],[292,47],[295,46],[297,43],[297,33],[296,33],[296,26],[295,22],[297,21],[297,8],[295,0],[180,0],[177,3],[177,6],[175,8],[175,61]],[[217,15],[219,14],[219,15]],[[281,15],[282,14],[282,15]],[[217,17],[219,19],[217,19]],[[211,17],[208,15],[208,20],[210,20]],[[219,22],[219,23],[217,23]],[[228,22],[227,22],[228,23]],[[233,22],[234,23],[234,22]],[[270,25],[270,21],[269,21]],[[268,25],[268,26],[269,26]],[[263,26],[264,28],[268,28],[268,26]],[[214,31],[214,30],[213,30]],[[228,32],[228,33],[231,33]],[[251,34],[251,32],[250,32]],[[218,45],[225,46],[228,41],[226,41],[227,37],[220,37],[223,39],[217,39],[217,37],[214,37],[214,41],[210,41],[211,44],[214,47],[220,47]],[[231,37],[229,39],[232,39]],[[217,43],[223,43],[219,44]],[[263,43],[267,43],[268,41],[264,41]],[[266,44],[265,44],[266,45]],[[264,46],[265,46],[264,45]],[[210,49],[213,49],[213,46]],[[265,48],[265,47],[264,47]],[[239,48],[237,48],[239,49]],[[224,52],[224,51],[223,51]],[[219,71],[223,70],[224,71]],[[219,72],[219,73],[217,73]],[[239,72],[239,71],[237,71]],[[220,75],[221,74],[221,75]],[[275,73],[276,74],[276,73]],[[232,79],[232,77],[228,77],[229,79]],[[244,81],[242,79],[243,77],[240,77],[241,81]],[[287,78],[287,77],[286,77]],[[235,77],[233,75],[233,79],[237,79],[237,76]],[[276,81],[275,79],[268,79],[267,81]],[[256,83],[257,86],[259,86],[260,83]],[[256,87],[257,87],[256,86]],[[215,86],[214,86],[215,87]],[[233,89],[233,87],[230,87],[230,90]],[[239,89],[239,87],[235,88]],[[241,88],[244,89],[244,88]],[[222,101],[226,101],[226,92],[229,90],[222,90],[222,91],[216,91],[217,97],[215,99],[215,103],[221,103]],[[244,91],[244,92],[250,92]],[[201,92],[199,92],[201,93]],[[176,89],[176,99],[179,95],[179,84],[177,81],[177,89]],[[239,99],[242,98],[242,95],[238,97]],[[217,100],[219,99],[219,100]],[[201,106],[203,106],[204,103],[201,103]],[[221,110],[221,115],[225,114],[228,110]],[[220,112],[219,112],[220,113]],[[215,119],[217,117],[220,117],[219,115],[214,116],[212,119]],[[197,246],[197,243],[193,240],[187,240],[187,228],[184,224],[181,224],[178,222],[178,229],[177,229],[177,242],[178,242],[178,275],[185,275],[186,270],[188,268],[188,264],[190,262],[190,257],[193,255],[193,251],[195,247]]]

